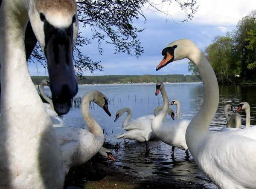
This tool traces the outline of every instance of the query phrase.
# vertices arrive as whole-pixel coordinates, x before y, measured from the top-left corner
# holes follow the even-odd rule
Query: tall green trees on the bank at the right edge
[[[252,80],[256,71],[256,10],[243,17],[232,33],[216,36],[206,47],[207,60],[212,65],[218,83],[234,83],[239,80]],[[193,73],[193,66],[189,67]]]

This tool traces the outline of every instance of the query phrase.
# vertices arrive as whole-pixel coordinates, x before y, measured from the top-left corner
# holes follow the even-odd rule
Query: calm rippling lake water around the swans
[[[132,111],[131,120],[142,115],[151,115],[155,107],[163,105],[162,95],[154,95],[156,84],[118,84],[118,85],[83,85],[79,86],[77,96],[83,96],[90,90],[98,90],[110,99],[109,110],[112,114],[109,117],[103,109],[96,104],[91,106],[90,113],[105,131],[105,141],[109,143],[121,142],[118,150],[111,149],[116,162],[116,166],[126,167],[140,176],[154,174],[178,175],[181,179],[191,179],[200,176],[200,171],[190,155],[189,160],[185,159],[185,151],[175,149],[175,158],[171,157],[171,146],[154,140],[149,142],[151,148],[149,155],[145,157],[145,144],[137,143],[135,140],[127,140],[128,147],[125,146],[124,139],[115,139],[117,134],[124,132],[122,121],[126,113],[119,120],[114,122],[116,112],[124,107],[129,107]],[[180,119],[192,119],[204,98],[203,84],[201,83],[164,83],[170,101],[177,99],[180,101]],[[230,103],[232,106],[242,101],[250,104],[251,125],[256,124],[256,86],[219,86],[220,100],[217,113],[213,119],[210,130],[218,132],[226,124],[224,117],[224,105]],[[49,88],[45,92],[50,94]],[[176,106],[171,106],[176,111]],[[245,124],[245,113],[240,112],[242,125]],[[80,109],[71,109],[62,118],[69,124],[78,128],[87,128],[81,116]],[[170,119],[170,118],[168,118]],[[189,175],[190,174],[190,175]],[[187,178],[189,177],[189,178]],[[207,186],[214,188],[214,185]]]

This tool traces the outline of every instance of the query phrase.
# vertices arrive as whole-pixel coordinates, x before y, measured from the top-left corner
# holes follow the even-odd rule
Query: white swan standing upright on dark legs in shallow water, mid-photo
[[[161,92],[163,97],[163,110],[151,123],[151,129],[154,135],[162,142],[172,145],[172,157],[174,156],[175,147],[185,149],[186,157],[189,157],[189,151],[185,140],[185,133],[190,120],[179,119],[163,123],[163,118],[169,108],[169,100],[163,82],[157,81],[155,95]]]

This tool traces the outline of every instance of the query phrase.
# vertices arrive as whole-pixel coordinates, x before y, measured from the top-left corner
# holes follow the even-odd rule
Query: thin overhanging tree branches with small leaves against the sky
[[[180,9],[184,11],[185,18],[181,20],[182,22],[192,20],[193,15],[198,9],[195,0],[162,0],[159,5],[154,3],[154,0],[77,0],[80,26],[90,27],[93,33],[91,39],[79,33],[76,40],[73,60],[77,74],[82,74],[85,69],[91,72],[96,69],[103,69],[99,64],[100,62],[91,60],[90,57],[81,52],[81,47],[91,43],[91,40],[98,41],[99,54],[103,53],[101,44],[105,42],[114,46],[114,53],[135,54],[136,57],[139,57],[143,53],[143,47],[137,34],[144,29],[135,27],[133,20],[138,20],[140,17],[146,20],[143,14],[144,8],[160,11],[166,16],[172,17],[170,14],[162,11],[161,8],[158,8],[168,6],[171,3],[177,3]],[[25,40],[28,39],[29,36],[25,38]],[[38,44],[32,55],[32,59],[36,58],[37,62],[46,66],[44,56]],[[30,62],[32,62],[32,59],[30,59]]]

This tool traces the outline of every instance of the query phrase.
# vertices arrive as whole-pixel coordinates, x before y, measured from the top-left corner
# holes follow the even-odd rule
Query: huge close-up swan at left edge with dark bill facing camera
[[[0,188],[64,186],[61,147],[29,75],[24,48],[30,19],[46,54],[51,90],[61,100],[55,105],[61,108],[60,112],[67,112],[69,107],[65,104],[78,89],[72,62],[78,17],[75,0],[57,2],[2,0],[0,6]],[[67,38],[64,30],[68,30]],[[65,48],[54,38],[66,40]]]

